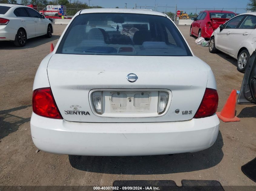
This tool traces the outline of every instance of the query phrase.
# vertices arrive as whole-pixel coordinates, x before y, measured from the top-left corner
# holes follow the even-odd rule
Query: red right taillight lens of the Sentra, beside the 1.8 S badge
[[[203,100],[197,110],[194,118],[208,117],[216,113],[218,107],[218,93],[217,90],[206,88]]]

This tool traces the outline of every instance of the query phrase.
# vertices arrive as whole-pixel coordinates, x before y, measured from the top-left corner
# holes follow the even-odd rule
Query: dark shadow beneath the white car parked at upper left
[[[40,46],[45,43],[49,43],[59,38],[60,38],[60,35],[52,35],[51,38],[46,38],[45,36],[35,37],[35,38],[28,39],[27,44],[23,47],[15,46],[12,41],[2,41],[0,43],[0,49],[19,50],[19,49],[35,48],[37,46]]]

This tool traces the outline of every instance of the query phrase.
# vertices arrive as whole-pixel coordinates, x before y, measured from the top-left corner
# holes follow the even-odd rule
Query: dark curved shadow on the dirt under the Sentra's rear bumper
[[[69,155],[69,162],[78,170],[106,174],[145,175],[191,172],[217,165],[223,158],[222,146],[223,140],[219,132],[213,146],[195,153],[134,157]]]

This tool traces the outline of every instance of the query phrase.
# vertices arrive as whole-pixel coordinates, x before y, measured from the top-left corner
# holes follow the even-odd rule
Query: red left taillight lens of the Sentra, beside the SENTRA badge
[[[53,119],[63,119],[53,98],[51,88],[34,90],[32,107],[33,112],[37,115]]]

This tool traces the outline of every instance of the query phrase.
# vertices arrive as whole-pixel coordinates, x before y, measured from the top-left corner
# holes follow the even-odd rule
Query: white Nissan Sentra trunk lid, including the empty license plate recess
[[[47,72],[67,121],[168,122],[193,118],[207,85],[206,66],[194,56],[54,54]],[[136,74],[137,81],[129,82],[129,73]],[[102,114],[94,110],[94,91],[103,92]],[[162,114],[157,113],[159,92],[169,95]]]

